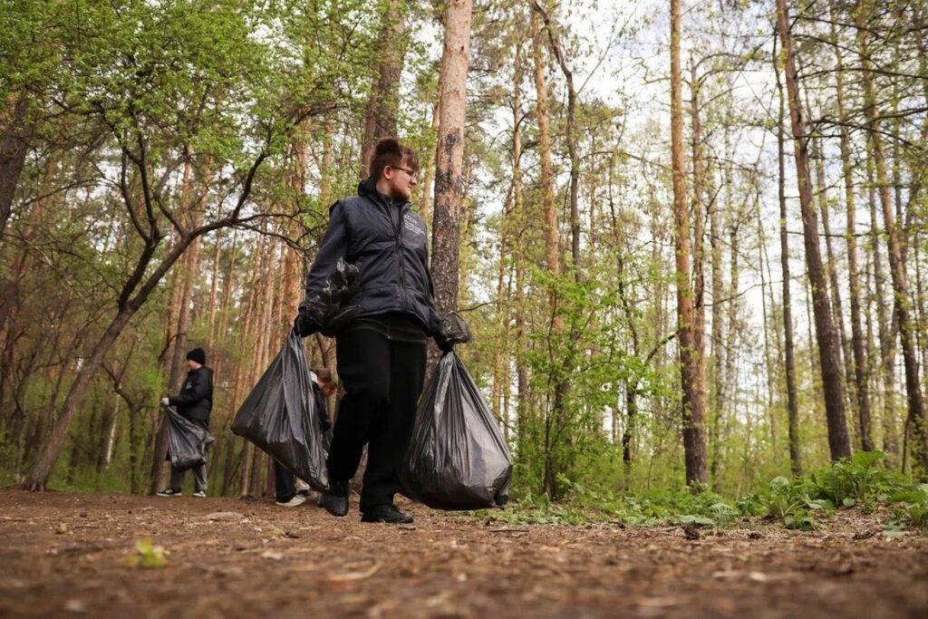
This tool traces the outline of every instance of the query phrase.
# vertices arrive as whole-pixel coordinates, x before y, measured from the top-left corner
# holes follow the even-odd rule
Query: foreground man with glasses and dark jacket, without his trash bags
[[[399,467],[425,378],[426,340],[431,336],[443,350],[449,347],[432,299],[425,222],[410,210],[419,170],[416,155],[394,138],[383,139],[369,170],[358,195],[339,200],[329,211],[296,328],[303,337],[334,332],[344,389],[322,507],[335,516],[348,513],[349,481],[367,444],[362,521],[412,522],[393,505]],[[359,270],[357,290],[342,301],[358,306],[358,316],[345,325],[317,324],[308,309],[321,297],[339,259]]]

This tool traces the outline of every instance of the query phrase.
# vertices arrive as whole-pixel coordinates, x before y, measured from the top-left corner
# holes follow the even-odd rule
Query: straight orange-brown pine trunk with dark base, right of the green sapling
[[[682,381],[683,450],[687,484],[696,490],[708,480],[705,419],[705,376],[697,348],[690,286],[690,202],[683,155],[683,95],[680,69],[680,0],[670,2],[670,135],[674,174],[674,247],[677,263],[677,338]]]

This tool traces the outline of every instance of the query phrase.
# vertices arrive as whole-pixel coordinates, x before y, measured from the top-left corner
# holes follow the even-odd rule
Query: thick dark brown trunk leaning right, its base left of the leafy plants
[[[818,362],[825,395],[825,414],[828,419],[828,443],[831,459],[836,460],[850,457],[851,445],[847,436],[847,420],[844,419],[844,382],[838,360],[840,344],[831,321],[828,285],[821,261],[821,250],[818,246],[818,217],[812,205],[812,176],[809,171],[808,153],[809,133],[799,100],[798,84],[796,84],[796,61],[793,40],[789,31],[786,0],[777,0],[777,23],[780,42],[783,46],[786,92],[793,128],[796,176],[799,182],[799,206],[803,215],[803,236],[806,239],[806,267],[812,286],[812,310],[815,314]]]

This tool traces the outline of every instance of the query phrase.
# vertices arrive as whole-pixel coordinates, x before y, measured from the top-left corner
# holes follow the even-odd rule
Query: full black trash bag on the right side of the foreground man
[[[458,355],[426,386],[400,477],[406,496],[434,509],[501,508],[512,457],[496,419]]]

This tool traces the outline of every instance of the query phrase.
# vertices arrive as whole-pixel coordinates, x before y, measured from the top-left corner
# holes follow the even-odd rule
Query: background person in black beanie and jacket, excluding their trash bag
[[[213,410],[213,370],[206,367],[206,353],[194,348],[187,353],[187,380],[178,395],[161,398],[164,406],[176,406],[177,412],[197,425],[209,429]],[[171,467],[171,485],[158,496],[180,496],[186,469]],[[206,463],[193,468],[193,496],[206,496]]]

